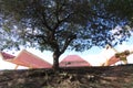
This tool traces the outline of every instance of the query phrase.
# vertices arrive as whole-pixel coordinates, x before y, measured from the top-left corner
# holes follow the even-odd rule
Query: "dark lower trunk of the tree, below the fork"
[[[60,52],[55,51],[53,53],[53,69],[58,70],[59,69],[59,57],[60,57]]]

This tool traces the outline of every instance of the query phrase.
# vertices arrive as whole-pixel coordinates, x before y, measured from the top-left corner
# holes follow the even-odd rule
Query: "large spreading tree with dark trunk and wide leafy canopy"
[[[52,51],[55,69],[65,50],[82,52],[93,45],[115,45],[130,36],[127,30],[114,34],[111,30],[116,25],[131,25],[132,3],[126,4],[131,11],[129,18],[116,8],[117,0],[1,0],[0,4],[1,28],[11,34],[13,45]],[[121,38],[112,42],[114,35],[120,34]],[[9,44],[9,47],[13,46]]]

